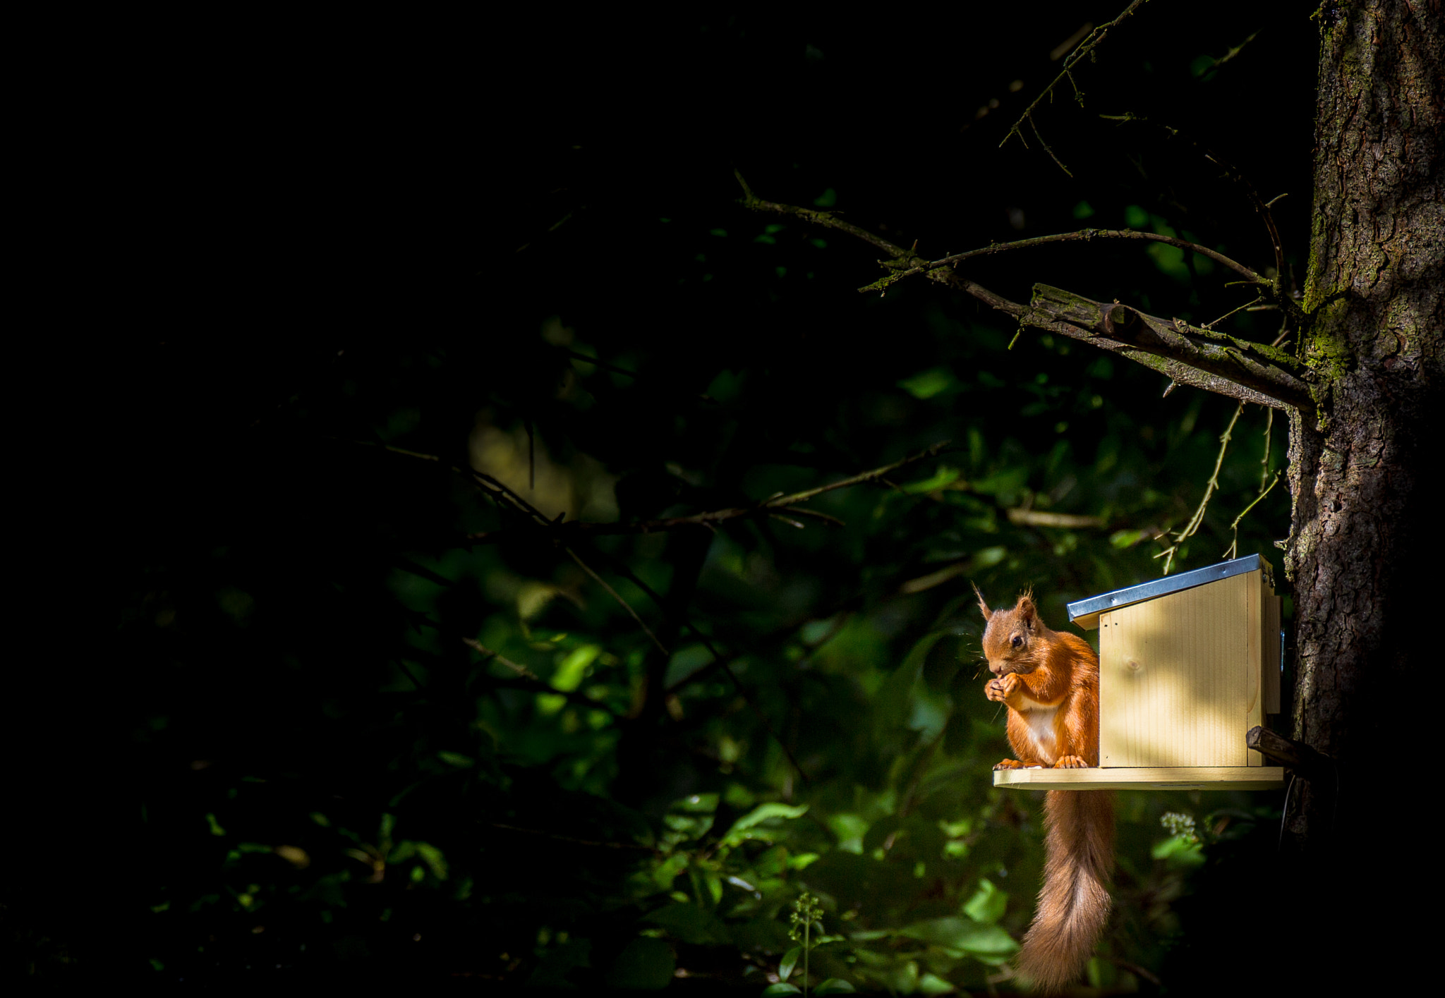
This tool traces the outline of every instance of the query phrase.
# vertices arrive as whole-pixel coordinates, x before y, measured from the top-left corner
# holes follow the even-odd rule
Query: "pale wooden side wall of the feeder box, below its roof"
[[[1257,601],[1250,572],[1100,614],[1103,765],[1250,764],[1246,721],[1260,702],[1251,579]]]

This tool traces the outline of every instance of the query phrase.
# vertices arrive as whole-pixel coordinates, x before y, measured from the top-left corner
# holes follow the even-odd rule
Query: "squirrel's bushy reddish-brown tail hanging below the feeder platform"
[[[1038,991],[1058,991],[1078,978],[1108,920],[1114,791],[1051,790],[1043,825],[1043,888],[1019,950],[1019,973]]]

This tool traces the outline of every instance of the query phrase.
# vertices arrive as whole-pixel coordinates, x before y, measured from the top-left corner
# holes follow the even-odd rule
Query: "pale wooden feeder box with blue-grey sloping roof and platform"
[[[1279,713],[1279,596],[1259,555],[1069,604],[1098,628],[1098,768],[996,770],[1029,790],[1272,790],[1244,734]]]

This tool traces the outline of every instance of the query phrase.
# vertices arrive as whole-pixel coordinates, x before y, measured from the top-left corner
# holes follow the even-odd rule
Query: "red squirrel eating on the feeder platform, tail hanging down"
[[[1009,708],[1009,744],[1017,760],[996,770],[1098,765],[1098,656],[1081,637],[1051,631],[1032,594],[1013,609],[988,609],[984,656],[996,679],[990,700]],[[1019,973],[1042,991],[1069,985],[1088,962],[1108,920],[1105,882],[1114,867],[1114,794],[1051,790],[1043,800],[1046,862],[1033,924],[1019,950]]]

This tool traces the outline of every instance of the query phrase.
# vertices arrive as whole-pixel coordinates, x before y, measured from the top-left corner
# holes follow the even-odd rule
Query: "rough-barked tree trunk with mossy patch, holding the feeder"
[[[1426,442],[1445,389],[1445,36],[1439,0],[1325,3],[1319,17],[1299,344],[1318,409],[1290,419],[1286,570],[1295,737],[1340,774],[1338,796],[1329,780],[1295,787],[1285,838],[1298,855],[1338,859],[1383,830],[1384,794],[1397,793],[1383,770],[1432,761],[1416,747],[1439,726],[1423,612],[1436,601],[1420,576],[1436,568]]]

